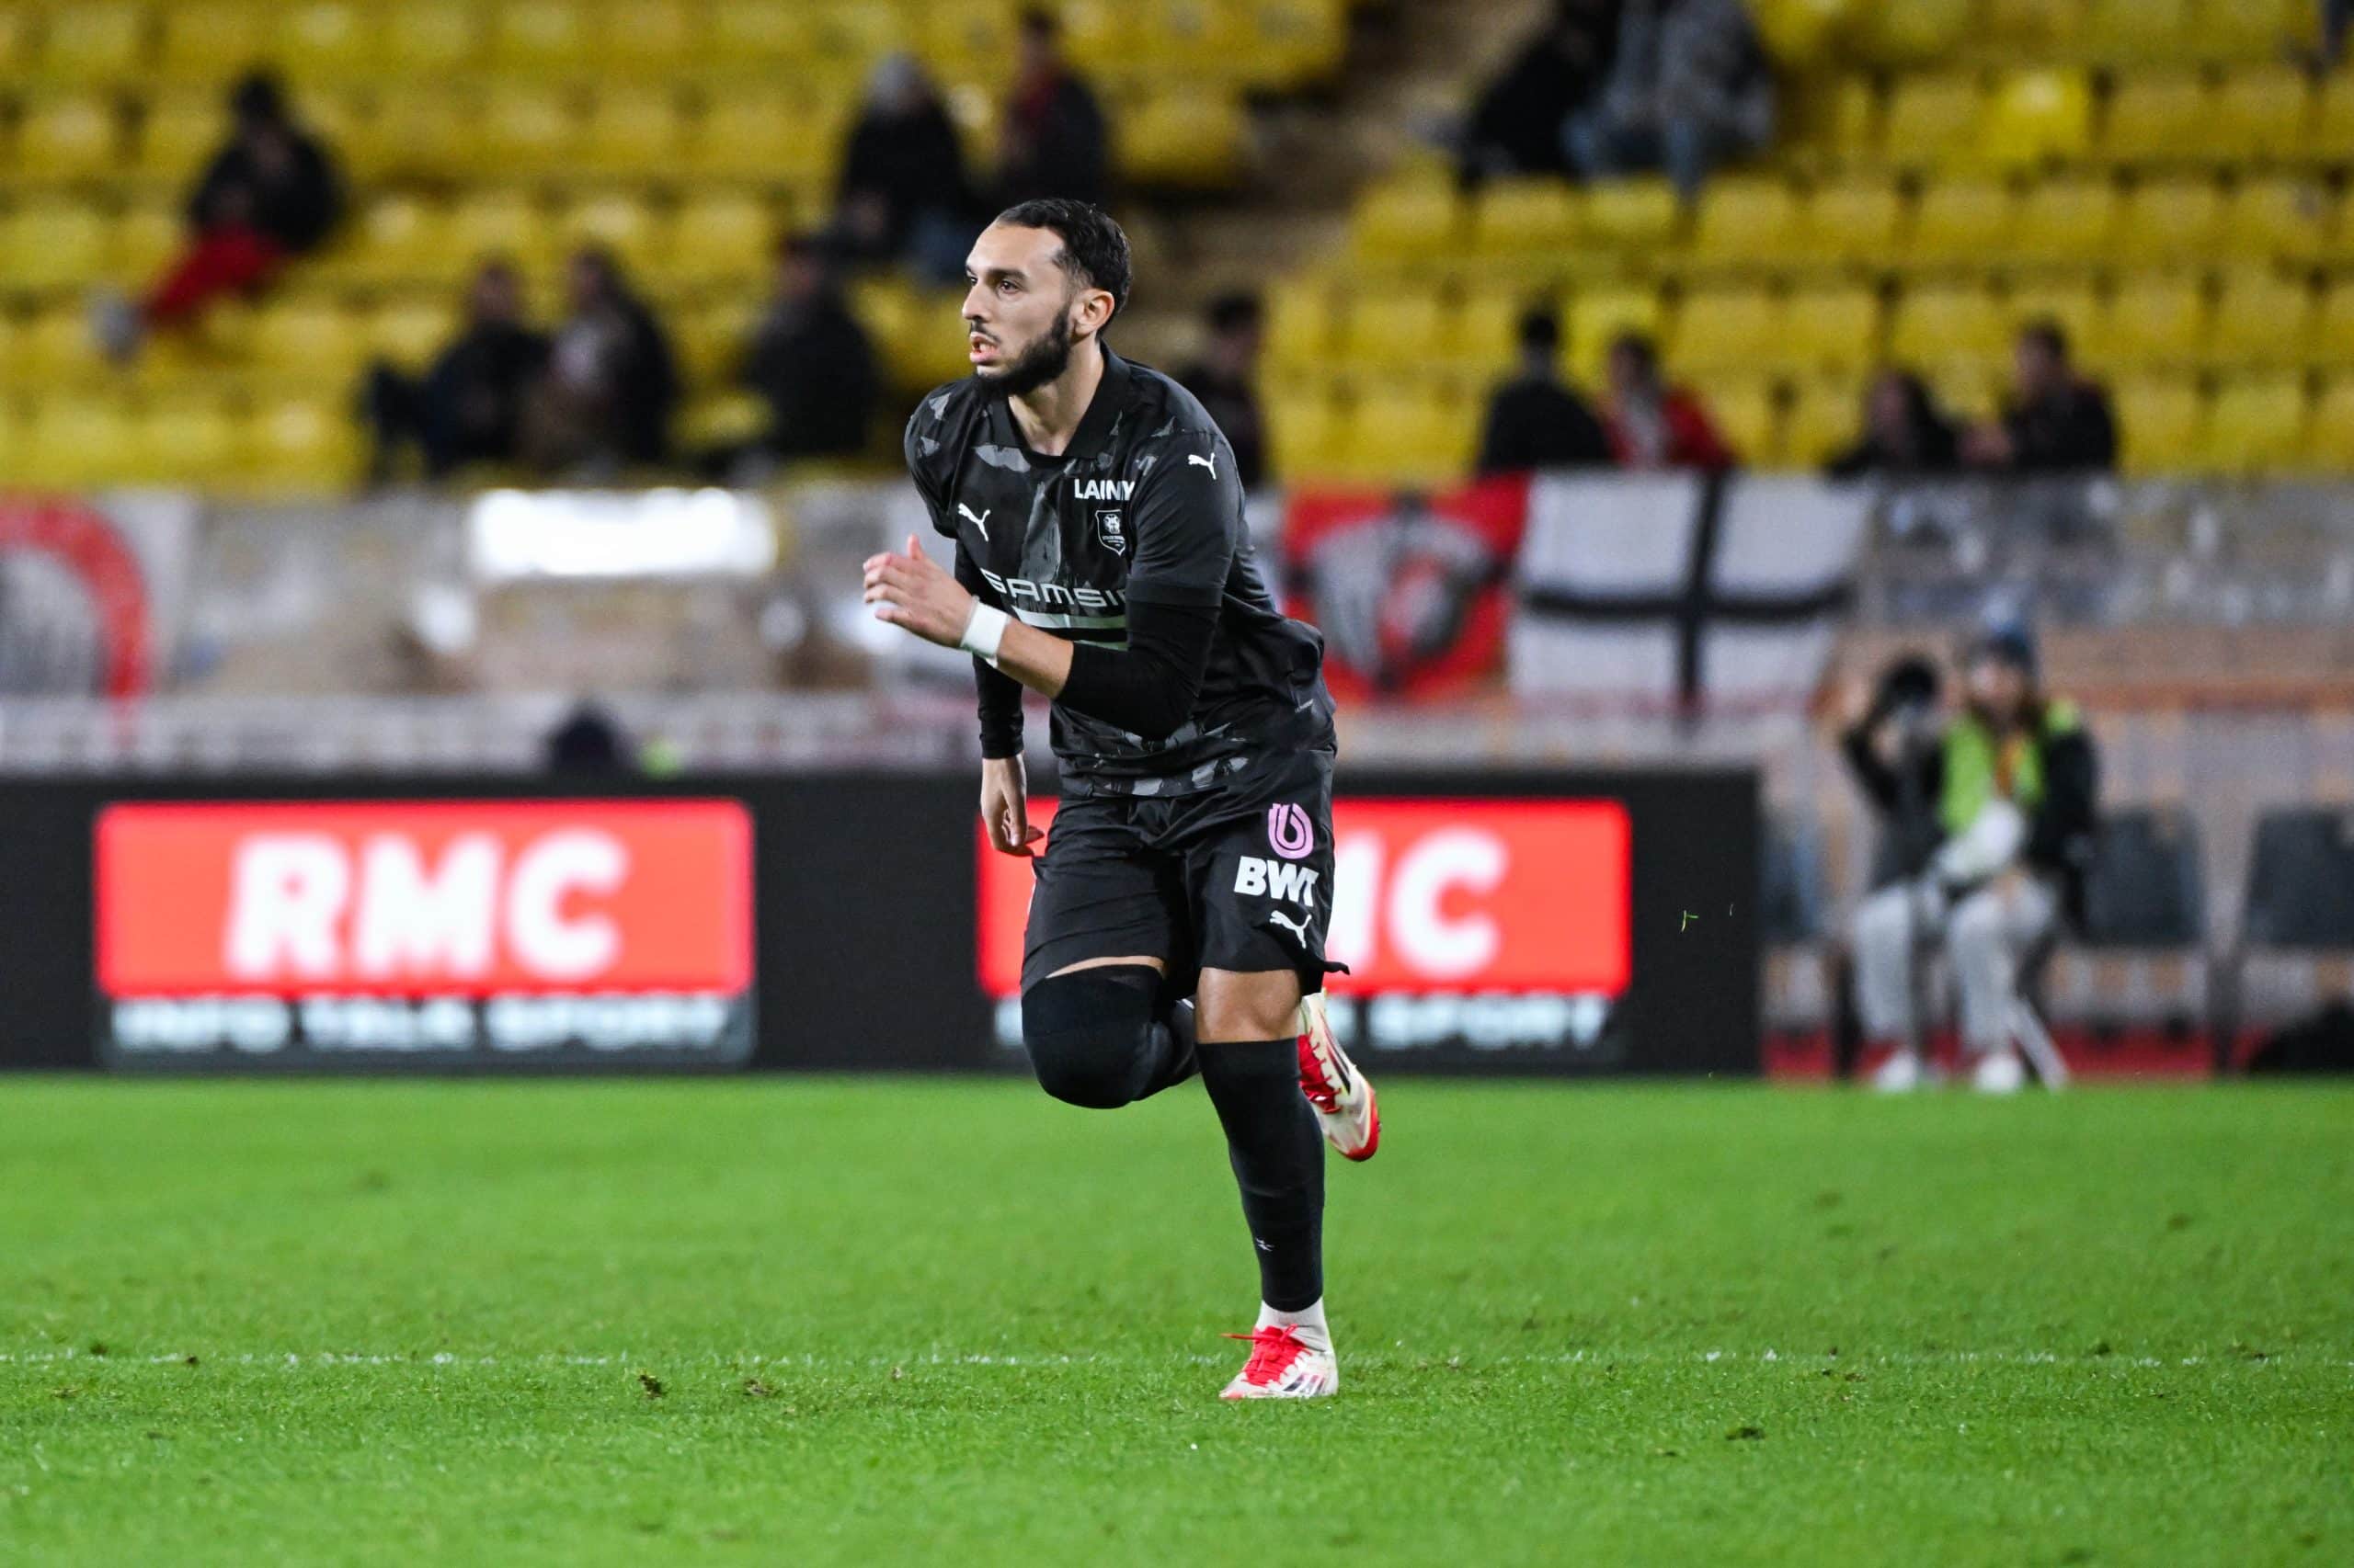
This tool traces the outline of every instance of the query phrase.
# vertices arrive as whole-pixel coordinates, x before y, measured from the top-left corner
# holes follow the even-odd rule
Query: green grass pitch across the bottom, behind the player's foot
[[[0,1078],[0,1559],[2349,1563],[2354,1092]]]

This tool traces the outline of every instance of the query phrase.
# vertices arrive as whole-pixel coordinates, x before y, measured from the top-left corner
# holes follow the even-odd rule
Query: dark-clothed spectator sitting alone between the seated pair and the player
[[[744,353],[744,386],[760,393],[772,459],[852,457],[873,424],[873,344],[843,299],[833,259],[814,235],[777,245],[777,294]]]

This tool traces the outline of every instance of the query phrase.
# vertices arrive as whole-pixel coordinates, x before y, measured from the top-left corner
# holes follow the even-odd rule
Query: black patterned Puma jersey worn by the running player
[[[951,381],[906,421],[906,466],[982,600],[1029,626],[1125,647],[1130,598],[1217,607],[1201,697],[1168,739],[1055,704],[1064,793],[1191,793],[1269,751],[1332,746],[1323,636],[1276,607],[1233,450],[1177,381],[1106,348],[1062,457],[1031,452],[986,381]]]

